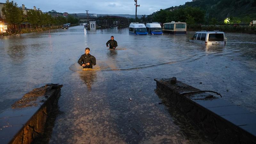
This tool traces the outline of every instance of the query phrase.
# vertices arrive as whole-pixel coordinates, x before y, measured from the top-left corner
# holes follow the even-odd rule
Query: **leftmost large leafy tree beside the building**
[[[23,19],[23,12],[18,8],[17,3],[13,1],[7,2],[2,8],[2,12],[5,18],[5,21],[9,24],[12,24],[13,28],[15,24],[20,24]]]

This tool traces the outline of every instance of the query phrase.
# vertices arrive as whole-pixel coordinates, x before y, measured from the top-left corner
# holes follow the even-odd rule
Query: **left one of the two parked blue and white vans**
[[[132,22],[129,26],[129,34],[148,35],[148,31],[143,23]]]

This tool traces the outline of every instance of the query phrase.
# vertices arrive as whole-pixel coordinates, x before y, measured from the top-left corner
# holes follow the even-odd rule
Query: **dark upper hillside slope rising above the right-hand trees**
[[[175,10],[186,6],[199,7],[205,10],[206,20],[216,18],[222,21],[230,16],[239,18],[249,16],[256,19],[256,0],[198,0],[165,10]]]

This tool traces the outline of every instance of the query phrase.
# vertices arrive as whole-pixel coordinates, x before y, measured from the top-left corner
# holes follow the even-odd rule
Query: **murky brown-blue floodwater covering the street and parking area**
[[[112,35],[117,50],[105,45]],[[192,35],[134,36],[128,28],[85,35],[76,26],[1,37],[0,112],[35,87],[59,83],[49,143],[211,143],[168,105],[154,78],[175,76],[255,113],[256,35],[226,33],[227,45],[215,47],[190,43]],[[85,47],[95,70],[77,65]]]

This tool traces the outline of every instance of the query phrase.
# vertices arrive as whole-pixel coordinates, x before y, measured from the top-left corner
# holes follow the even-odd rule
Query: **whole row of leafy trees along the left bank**
[[[2,9],[4,14],[5,22],[12,25],[13,28],[20,26],[21,23],[30,23],[33,28],[40,27],[51,27],[52,25],[62,25],[65,23],[75,24],[79,20],[74,16],[68,15],[68,17],[58,16],[52,17],[48,13],[42,13],[40,11],[30,10],[27,15],[23,14],[23,11],[18,8],[17,3],[6,2]]]

